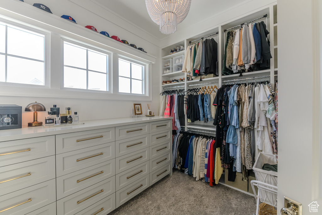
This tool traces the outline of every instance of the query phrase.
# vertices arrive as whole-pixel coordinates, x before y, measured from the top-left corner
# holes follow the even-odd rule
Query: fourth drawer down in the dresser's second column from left
[[[57,201],[57,214],[75,214],[115,192],[115,176]]]

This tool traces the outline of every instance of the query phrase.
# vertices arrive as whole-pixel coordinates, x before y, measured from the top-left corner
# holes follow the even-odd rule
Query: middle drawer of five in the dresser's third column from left
[[[115,159],[116,174],[149,160],[149,148],[123,155]]]

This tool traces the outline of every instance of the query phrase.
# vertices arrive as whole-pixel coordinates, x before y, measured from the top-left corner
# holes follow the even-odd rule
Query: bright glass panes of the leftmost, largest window
[[[0,82],[45,85],[45,34],[0,22]]]

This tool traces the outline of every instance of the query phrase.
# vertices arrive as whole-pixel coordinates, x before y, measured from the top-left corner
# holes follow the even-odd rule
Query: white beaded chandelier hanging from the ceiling
[[[147,12],[163,34],[172,34],[188,15],[191,0],[145,0]]]

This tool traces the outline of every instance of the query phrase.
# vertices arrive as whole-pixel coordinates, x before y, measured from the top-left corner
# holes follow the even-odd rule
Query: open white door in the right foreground
[[[320,0],[278,0],[278,214],[284,196],[322,214],[321,16]]]

